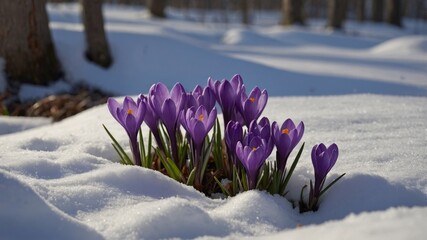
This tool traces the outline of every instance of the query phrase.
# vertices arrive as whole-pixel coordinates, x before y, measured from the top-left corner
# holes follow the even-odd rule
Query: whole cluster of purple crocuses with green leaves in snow
[[[159,170],[206,194],[222,191],[233,196],[260,189],[285,195],[304,144],[289,169],[286,164],[304,134],[304,124],[296,126],[291,119],[270,124],[266,117],[259,119],[267,100],[267,91],[258,87],[247,94],[240,75],[230,81],[209,78],[206,87],[196,86],[192,92],[186,92],[180,83],[170,91],[163,83],[157,83],[147,96],[141,94],[136,100],[108,100],[111,114],[129,136],[132,157],[104,128],[124,164]],[[222,110],[224,138],[217,119],[217,103]],[[143,122],[150,129],[147,144],[141,132]],[[152,144],[152,136],[156,145]],[[274,148],[275,161],[267,161]],[[314,185],[310,181],[308,201],[301,197],[301,211],[317,210],[320,196],[344,176],[324,187],[337,158],[336,144],[313,147]]]

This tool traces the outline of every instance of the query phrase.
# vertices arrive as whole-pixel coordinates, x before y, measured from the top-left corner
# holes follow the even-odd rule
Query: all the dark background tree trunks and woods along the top
[[[50,0],[76,2],[77,0]],[[404,27],[402,17],[427,19],[427,0],[79,0],[85,29],[87,59],[101,67],[113,62],[104,30],[102,3],[141,5],[153,17],[167,18],[166,9],[182,10],[204,22],[213,11],[215,22],[240,21],[249,25],[259,13],[277,15],[282,25],[310,25],[325,21],[324,26],[345,29],[345,21],[386,22]],[[46,0],[0,1],[0,57],[10,81],[49,84],[62,76],[48,27]],[[191,14],[189,14],[191,13]],[[210,13],[210,16],[213,14]]]

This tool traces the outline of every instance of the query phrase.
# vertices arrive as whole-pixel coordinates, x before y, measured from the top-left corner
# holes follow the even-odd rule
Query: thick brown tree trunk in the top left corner
[[[62,76],[45,3],[0,1],[0,56],[9,80],[46,85]]]

